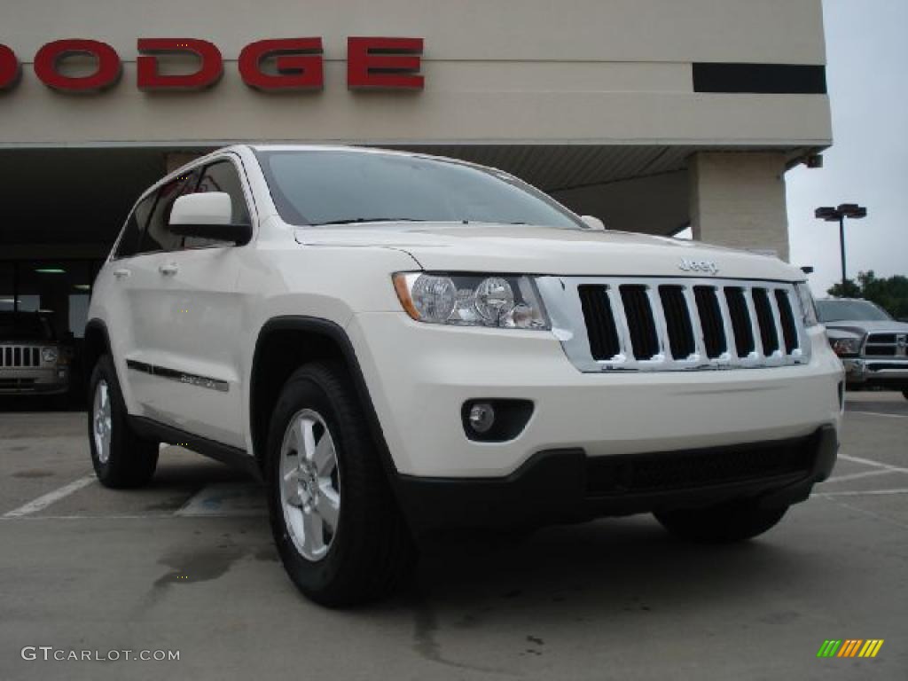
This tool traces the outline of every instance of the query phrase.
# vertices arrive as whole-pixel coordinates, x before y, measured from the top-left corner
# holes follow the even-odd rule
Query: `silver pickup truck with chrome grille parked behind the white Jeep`
[[[817,301],[849,388],[902,390],[908,400],[908,323],[861,299]]]

